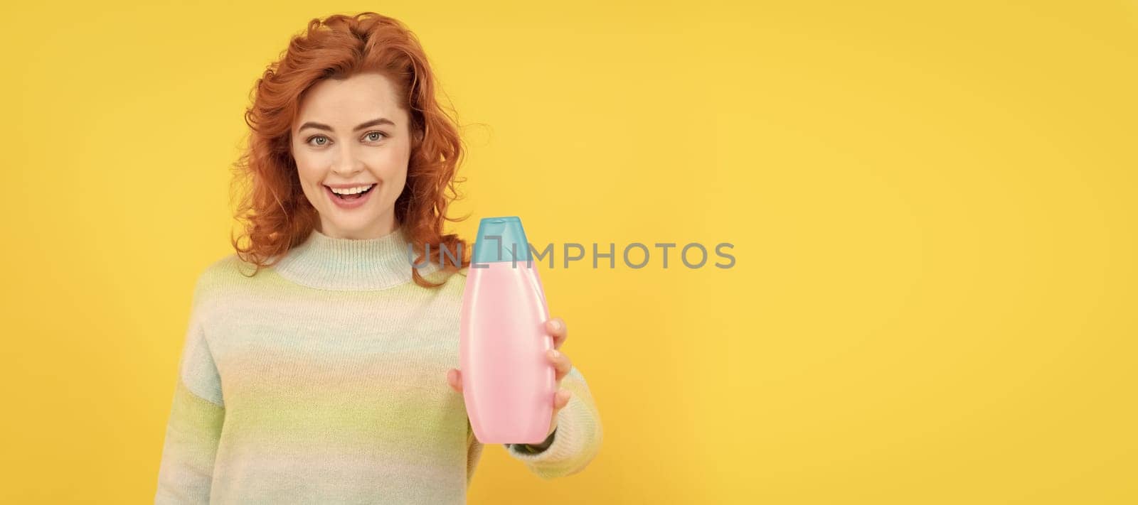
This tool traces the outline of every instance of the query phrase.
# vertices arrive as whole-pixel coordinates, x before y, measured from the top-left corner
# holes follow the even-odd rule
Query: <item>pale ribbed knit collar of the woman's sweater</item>
[[[313,230],[274,265],[297,284],[337,291],[372,291],[411,282],[413,252],[403,227],[374,239],[340,239]],[[428,263],[420,275],[438,265]]]

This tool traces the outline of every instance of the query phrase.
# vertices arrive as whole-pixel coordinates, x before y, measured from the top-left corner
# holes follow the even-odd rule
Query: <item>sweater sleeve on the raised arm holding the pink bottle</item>
[[[561,380],[561,388],[572,391],[569,403],[558,412],[558,427],[550,446],[536,453],[523,444],[506,444],[506,453],[522,461],[531,473],[551,480],[580,472],[601,449],[603,430],[596,403],[576,366]]]

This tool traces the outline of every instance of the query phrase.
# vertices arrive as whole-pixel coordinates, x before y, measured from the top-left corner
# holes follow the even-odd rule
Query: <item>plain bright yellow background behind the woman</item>
[[[454,230],[734,243],[543,271],[604,445],[470,503],[1138,502],[1136,2],[534,3],[6,3],[0,502],[152,500],[249,90],[360,10],[459,111]]]

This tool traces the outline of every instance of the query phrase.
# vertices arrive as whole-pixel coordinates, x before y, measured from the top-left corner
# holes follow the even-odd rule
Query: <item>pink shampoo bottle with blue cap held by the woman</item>
[[[541,444],[556,381],[545,353],[549,308],[518,217],[487,217],[478,237],[459,322],[462,396],[483,444]]]

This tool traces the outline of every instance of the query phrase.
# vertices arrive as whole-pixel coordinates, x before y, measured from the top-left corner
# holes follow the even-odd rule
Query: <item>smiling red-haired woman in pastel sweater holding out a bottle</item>
[[[420,44],[374,13],[313,19],[246,119],[248,240],[197,280],[155,502],[464,503],[481,454],[452,367],[470,260],[443,234],[462,149]],[[463,252],[444,265],[426,245]],[[546,326],[560,348],[564,322]],[[584,376],[549,359],[549,438],[505,445],[544,479],[602,437]]]

